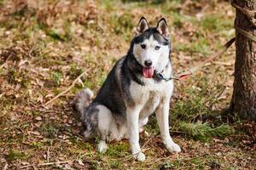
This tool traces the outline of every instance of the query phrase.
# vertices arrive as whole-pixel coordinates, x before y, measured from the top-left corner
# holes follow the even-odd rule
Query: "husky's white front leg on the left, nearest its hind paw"
[[[139,114],[140,107],[127,108],[127,127],[129,134],[129,142],[131,146],[131,154],[137,161],[144,161],[145,155],[143,154],[139,145]]]

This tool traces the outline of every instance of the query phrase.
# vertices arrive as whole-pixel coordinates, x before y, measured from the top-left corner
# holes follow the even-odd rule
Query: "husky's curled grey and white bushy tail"
[[[81,122],[84,122],[86,108],[90,105],[93,92],[89,88],[84,88],[73,99],[72,105],[76,116]]]

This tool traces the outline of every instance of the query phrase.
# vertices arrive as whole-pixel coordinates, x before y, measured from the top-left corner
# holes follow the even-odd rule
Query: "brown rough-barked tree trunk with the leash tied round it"
[[[236,0],[240,7],[256,10],[255,0]],[[256,28],[236,9],[236,26],[256,36]],[[236,31],[235,82],[230,109],[244,119],[256,121],[256,42]]]

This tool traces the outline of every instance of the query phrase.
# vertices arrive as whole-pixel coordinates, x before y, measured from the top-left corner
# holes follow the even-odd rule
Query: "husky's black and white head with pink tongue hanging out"
[[[154,70],[163,71],[170,61],[171,52],[166,20],[162,18],[156,27],[149,27],[147,20],[142,17],[131,50],[138,63],[143,65],[143,77],[153,77]]]

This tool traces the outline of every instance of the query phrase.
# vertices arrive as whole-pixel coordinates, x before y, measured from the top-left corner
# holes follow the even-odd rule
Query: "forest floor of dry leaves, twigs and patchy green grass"
[[[224,0],[0,0],[0,168],[3,169],[256,169],[256,125],[225,116],[234,77],[234,45],[188,79],[175,82],[168,152],[155,117],[141,135],[146,161],[134,161],[127,140],[96,152],[84,141],[70,102],[95,93],[129,48],[141,16],[165,17],[172,65],[184,71],[235,37],[235,10]],[[50,105],[79,75],[81,81]],[[59,162],[59,163],[57,163]]]

